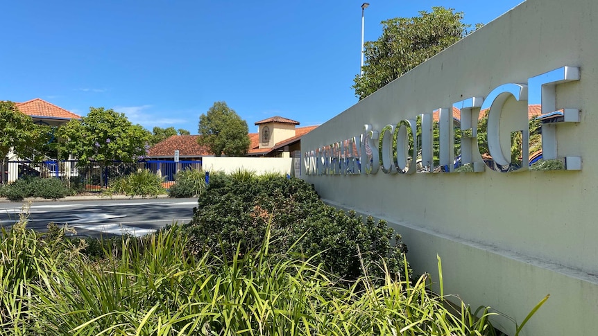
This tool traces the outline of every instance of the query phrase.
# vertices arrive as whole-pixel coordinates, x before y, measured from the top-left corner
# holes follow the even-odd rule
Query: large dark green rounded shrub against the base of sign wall
[[[323,263],[348,281],[364,274],[359,260],[373,276],[382,268],[373,260],[382,256],[394,274],[402,273],[402,254],[407,247],[386,222],[357,217],[327,206],[313,186],[301,179],[269,177],[237,179],[210,183],[198,199],[198,211],[187,224],[191,248],[196,254],[211,249],[223,251],[227,258],[247,253],[264,240],[268,222],[277,239],[271,251],[292,251],[314,263]]]

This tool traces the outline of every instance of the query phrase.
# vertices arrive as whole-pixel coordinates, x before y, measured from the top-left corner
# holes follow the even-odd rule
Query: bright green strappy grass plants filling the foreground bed
[[[123,238],[117,253],[103,245],[103,258],[92,262],[57,228],[40,236],[25,224],[2,233],[0,335],[496,334],[490,308],[447,306],[456,297],[444,294],[442,278],[438,295],[428,274],[412,283],[388,269],[382,285],[366,273],[347,288],[315,258],[272,253],[280,237],[271,225],[259,248],[238,247],[232,258],[196,258],[174,225]]]

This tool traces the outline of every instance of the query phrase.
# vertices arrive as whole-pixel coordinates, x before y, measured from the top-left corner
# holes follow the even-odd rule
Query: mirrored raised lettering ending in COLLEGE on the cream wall
[[[527,84],[499,85],[486,98],[461,100],[381,130],[366,124],[357,136],[304,151],[305,173],[581,170],[581,157],[559,153],[556,143],[559,125],[579,123],[581,113],[574,107],[557,109],[556,86],[577,80],[579,68],[561,67],[533,76]],[[510,97],[527,101],[527,111],[503,114]],[[499,125],[515,126],[502,130]]]

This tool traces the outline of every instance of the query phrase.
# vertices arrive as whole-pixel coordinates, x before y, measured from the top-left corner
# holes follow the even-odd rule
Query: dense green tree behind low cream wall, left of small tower
[[[221,154],[239,157],[249,150],[246,121],[223,101],[214,103],[206,114],[199,117],[198,131],[198,143],[210,148],[216,157]]]

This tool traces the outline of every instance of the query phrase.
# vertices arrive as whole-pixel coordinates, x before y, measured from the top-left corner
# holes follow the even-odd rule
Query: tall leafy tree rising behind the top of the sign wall
[[[463,12],[433,7],[417,17],[382,21],[382,36],[366,42],[364,76],[354,78],[355,96],[366,98],[467,35]],[[478,26],[476,26],[477,28]]]

